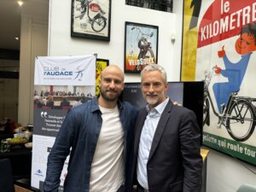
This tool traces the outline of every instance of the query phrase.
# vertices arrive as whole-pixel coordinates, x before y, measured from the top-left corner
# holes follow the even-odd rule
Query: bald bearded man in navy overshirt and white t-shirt
[[[117,66],[102,71],[100,96],[71,109],[48,157],[44,191],[58,191],[67,155],[64,191],[120,192],[131,185],[132,130],[137,108],[120,102],[124,73]],[[125,179],[125,177],[127,177]]]

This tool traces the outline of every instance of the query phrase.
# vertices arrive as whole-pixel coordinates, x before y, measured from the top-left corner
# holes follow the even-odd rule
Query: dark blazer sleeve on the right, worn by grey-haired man
[[[200,192],[202,180],[201,131],[195,113],[187,112],[183,113],[179,129],[184,169],[183,192]]]

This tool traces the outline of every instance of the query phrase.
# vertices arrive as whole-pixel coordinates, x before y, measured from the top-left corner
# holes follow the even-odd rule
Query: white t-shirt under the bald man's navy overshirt
[[[102,129],[91,164],[90,192],[116,192],[125,183],[124,131],[119,108],[102,108]]]

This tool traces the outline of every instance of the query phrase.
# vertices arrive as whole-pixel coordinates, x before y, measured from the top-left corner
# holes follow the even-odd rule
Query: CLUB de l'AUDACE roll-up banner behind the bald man
[[[67,110],[95,96],[96,55],[37,56],[35,63],[31,185],[43,191],[48,155]],[[68,158],[59,191],[63,191]]]

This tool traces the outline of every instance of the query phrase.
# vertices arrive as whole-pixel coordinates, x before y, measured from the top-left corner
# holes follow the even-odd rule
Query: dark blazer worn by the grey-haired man
[[[143,108],[137,117],[132,166],[135,179],[138,147],[147,114]],[[150,192],[201,191],[200,138],[195,113],[169,101],[161,114],[148,156]]]

